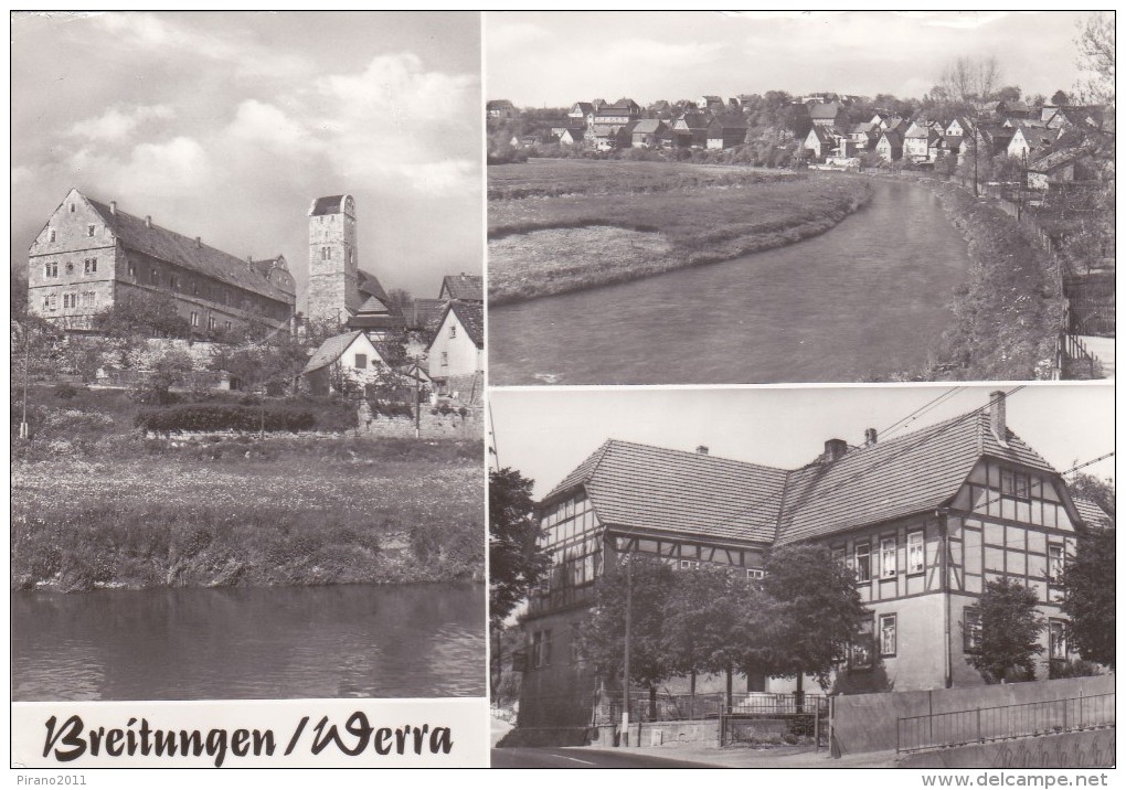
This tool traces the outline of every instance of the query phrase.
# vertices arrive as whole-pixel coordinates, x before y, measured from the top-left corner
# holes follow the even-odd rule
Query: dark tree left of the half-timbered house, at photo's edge
[[[489,621],[494,629],[539,583],[549,563],[536,546],[531,486],[516,469],[489,473]]]

